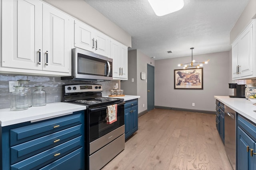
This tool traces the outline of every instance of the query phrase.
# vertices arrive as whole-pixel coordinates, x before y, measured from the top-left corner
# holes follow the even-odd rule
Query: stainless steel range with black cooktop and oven
[[[103,98],[102,85],[70,84],[62,86],[62,102],[86,106],[85,166],[99,170],[124,150],[124,99]],[[107,123],[107,107],[117,105],[117,120]]]

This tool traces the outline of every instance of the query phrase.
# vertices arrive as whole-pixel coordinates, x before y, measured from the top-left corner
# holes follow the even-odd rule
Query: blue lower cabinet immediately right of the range
[[[125,139],[138,130],[138,99],[129,100],[124,105]]]

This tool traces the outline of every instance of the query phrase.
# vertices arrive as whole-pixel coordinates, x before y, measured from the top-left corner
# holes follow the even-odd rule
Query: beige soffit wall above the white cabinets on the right
[[[256,0],[250,0],[248,5],[236,21],[236,24],[230,31],[230,43],[241,33],[245,26],[250,23],[251,19],[256,18]]]

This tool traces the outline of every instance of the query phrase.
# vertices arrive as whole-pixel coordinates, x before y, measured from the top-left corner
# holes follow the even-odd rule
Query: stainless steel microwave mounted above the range
[[[61,80],[113,80],[112,59],[79,48],[72,49],[72,76]]]

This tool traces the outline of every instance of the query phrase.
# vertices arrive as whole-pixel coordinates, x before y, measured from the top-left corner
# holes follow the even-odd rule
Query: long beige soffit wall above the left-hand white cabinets
[[[116,39],[127,47],[132,47],[132,37],[100,12],[92,8],[84,0],[44,0],[52,6],[88,23],[106,35]]]

